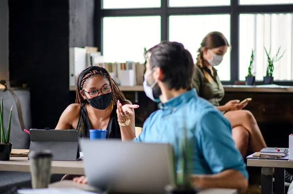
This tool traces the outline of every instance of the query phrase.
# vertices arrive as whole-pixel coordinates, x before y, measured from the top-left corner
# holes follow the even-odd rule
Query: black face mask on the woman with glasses
[[[86,96],[85,96],[86,97]],[[87,99],[88,103],[95,109],[105,110],[111,103],[113,92]]]

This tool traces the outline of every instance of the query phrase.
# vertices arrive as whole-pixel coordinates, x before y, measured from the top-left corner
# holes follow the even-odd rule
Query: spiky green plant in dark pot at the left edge
[[[10,109],[8,128],[6,130],[6,134],[4,132],[4,121],[3,121],[3,98],[1,98],[0,104],[0,160],[9,160],[12,143],[10,141],[10,129],[11,129],[11,117],[12,117],[12,108]]]

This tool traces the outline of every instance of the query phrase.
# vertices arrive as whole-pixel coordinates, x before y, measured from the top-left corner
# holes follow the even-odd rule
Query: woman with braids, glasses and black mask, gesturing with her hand
[[[56,129],[76,129],[89,137],[90,129],[106,129],[106,138],[135,132],[134,110],[138,105],[125,99],[123,93],[103,67],[91,66],[76,80],[76,100],[61,115]],[[130,130],[130,131],[131,131]]]

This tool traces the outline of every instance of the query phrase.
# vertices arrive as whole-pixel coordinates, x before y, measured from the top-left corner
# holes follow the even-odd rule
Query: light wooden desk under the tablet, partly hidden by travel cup
[[[9,161],[0,161],[0,171],[30,172],[30,163],[27,157],[10,157]],[[52,174],[84,175],[83,161],[56,161],[51,162]]]

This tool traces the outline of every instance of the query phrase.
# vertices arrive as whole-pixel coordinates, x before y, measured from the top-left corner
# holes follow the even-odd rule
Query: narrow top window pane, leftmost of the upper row
[[[102,0],[103,9],[161,7],[161,0]]]

